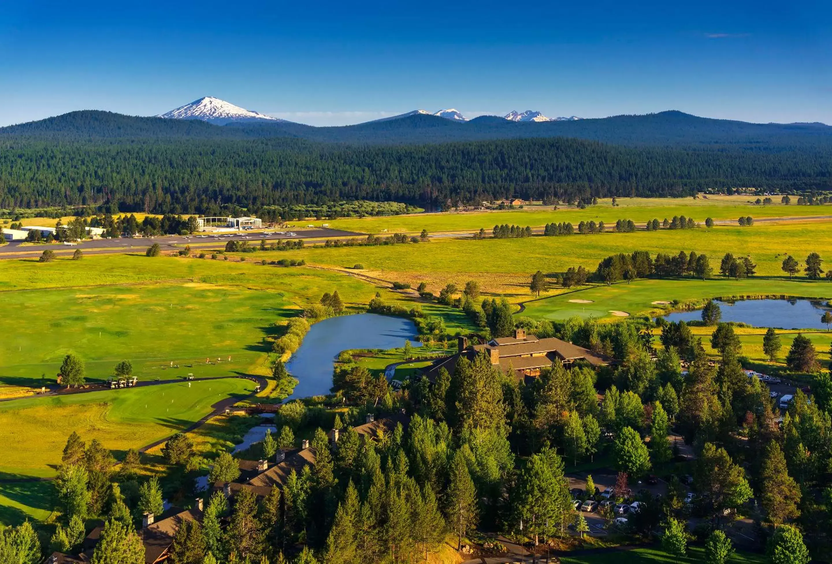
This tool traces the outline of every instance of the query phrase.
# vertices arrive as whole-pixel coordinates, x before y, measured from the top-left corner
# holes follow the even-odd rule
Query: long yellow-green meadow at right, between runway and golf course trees
[[[780,265],[785,254],[793,254],[798,260],[811,251],[832,257],[832,222],[527,239],[445,239],[406,245],[266,251],[254,256],[257,260],[304,259],[311,265],[346,272],[360,264],[365,269],[360,272],[365,275],[409,282],[413,287],[425,282],[434,294],[448,282],[462,287],[467,280],[477,280],[488,294],[518,302],[531,299],[528,281],[536,270],[562,272],[570,266],[595,270],[604,257],[633,250],[647,250],[651,255],[695,250],[708,255],[717,270],[726,252],[750,255],[758,275],[780,278],[784,276]],[[562,291],[554,288],[549,294]],[[650,299],[648,304],[655,299],[664,298]]]

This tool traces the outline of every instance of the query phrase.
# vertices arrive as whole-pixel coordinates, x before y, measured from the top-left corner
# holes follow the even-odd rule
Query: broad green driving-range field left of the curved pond
[[[0,288],[0,389],[53,383],[70,352],[85,360],[89,378],[108,377],[121,359],[140,379],[265,374],[262,339],[324,292],[338,289],[348,308],[376,291],[403,299],[327,270],[136,255],[3,261]],[[465,322],[443,314],[449,325]]]

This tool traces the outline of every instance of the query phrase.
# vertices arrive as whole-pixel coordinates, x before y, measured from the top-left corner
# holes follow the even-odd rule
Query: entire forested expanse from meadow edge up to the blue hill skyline
[[[327,128],[72,112],[0,128],[0,207],[211,214],[239,206],[257,213],[337,200],[441,206],[509,196],[832,188],[832,128],[823,125],[665,112],[508,131],[496,118],[414,118]],[[472,141],[482,137],[478,131],[504,138]],[[531,138],[510,138],[516,133]],[[467,141],[438,142],[458,138]],[[339,140],[349,142],[331,142]]]

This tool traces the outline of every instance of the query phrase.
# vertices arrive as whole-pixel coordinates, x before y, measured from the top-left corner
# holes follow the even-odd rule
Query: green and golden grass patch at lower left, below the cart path
[[[188,427],[221,399],[250,393],[245,378],[169,383],[143,388],[24,398],[0,403],[0,475],[47,477],[55,473],[67,437],[97,438],[118,458]],[[37,440],[32,440],[37,438]]]

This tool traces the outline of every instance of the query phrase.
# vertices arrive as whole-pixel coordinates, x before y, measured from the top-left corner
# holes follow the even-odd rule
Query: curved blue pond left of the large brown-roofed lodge
[[[330,317],[312,325],[286,369],[298,378],[286,401],[329,393],[334,360],[346,349],[396,349],[414,339],[416,325],[410,319],[379,314]],[[422,346],[413,343],[414,347]]]

